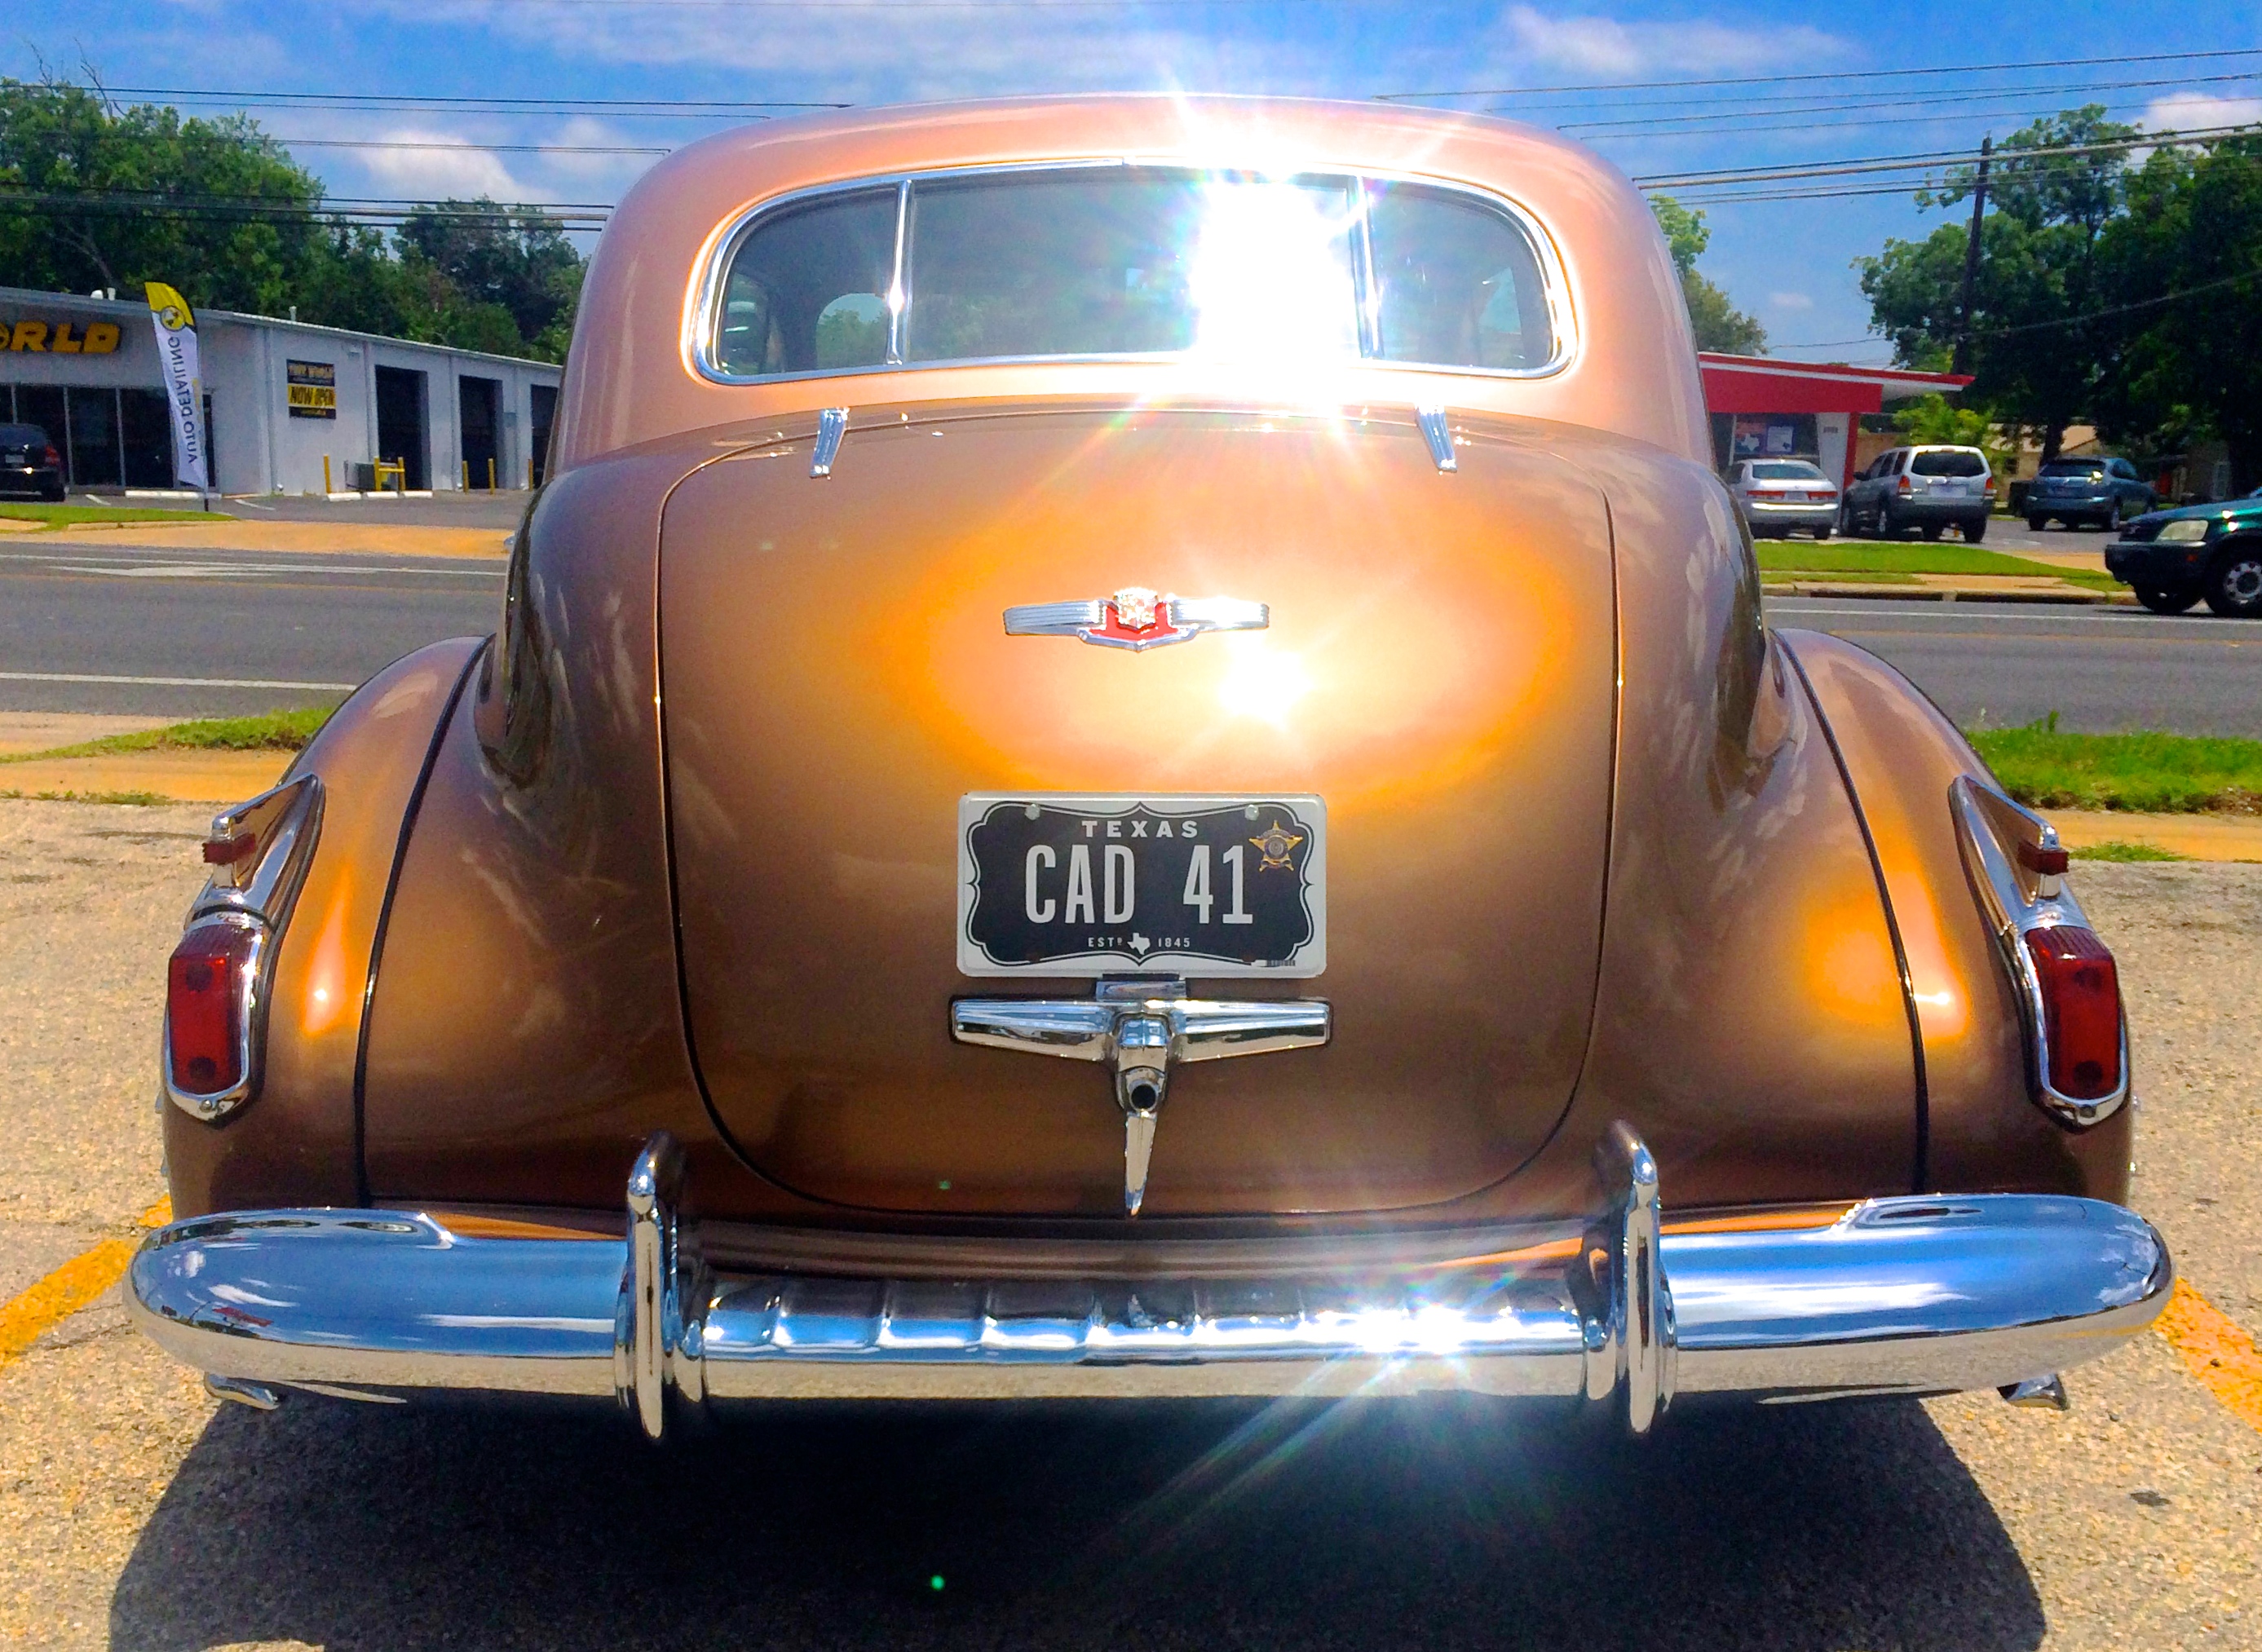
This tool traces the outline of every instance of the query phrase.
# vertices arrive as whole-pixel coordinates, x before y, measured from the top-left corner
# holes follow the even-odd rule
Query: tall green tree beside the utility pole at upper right
[[[1970,401],[2036,430],[2045,459],[2058,455],[2065,425],[2090,410],[2106,380],[2117,333],[2088,317],[2108,308],[2099,244],[2122,210],[2126,152],[2097,145],[2135,131],[2106,120],[2101,104],[2070,109],[2011,134],[1988,174],[1993,210],[1979,224],[1968,317]],[[1961,167],[1918,204],[1954,208],[1975,186],[1977,170]],[[1966,326],[1968,242],[1968,224],[1952,222],[1855,260],[1871,317],[1902,367],[1948,367]]]

